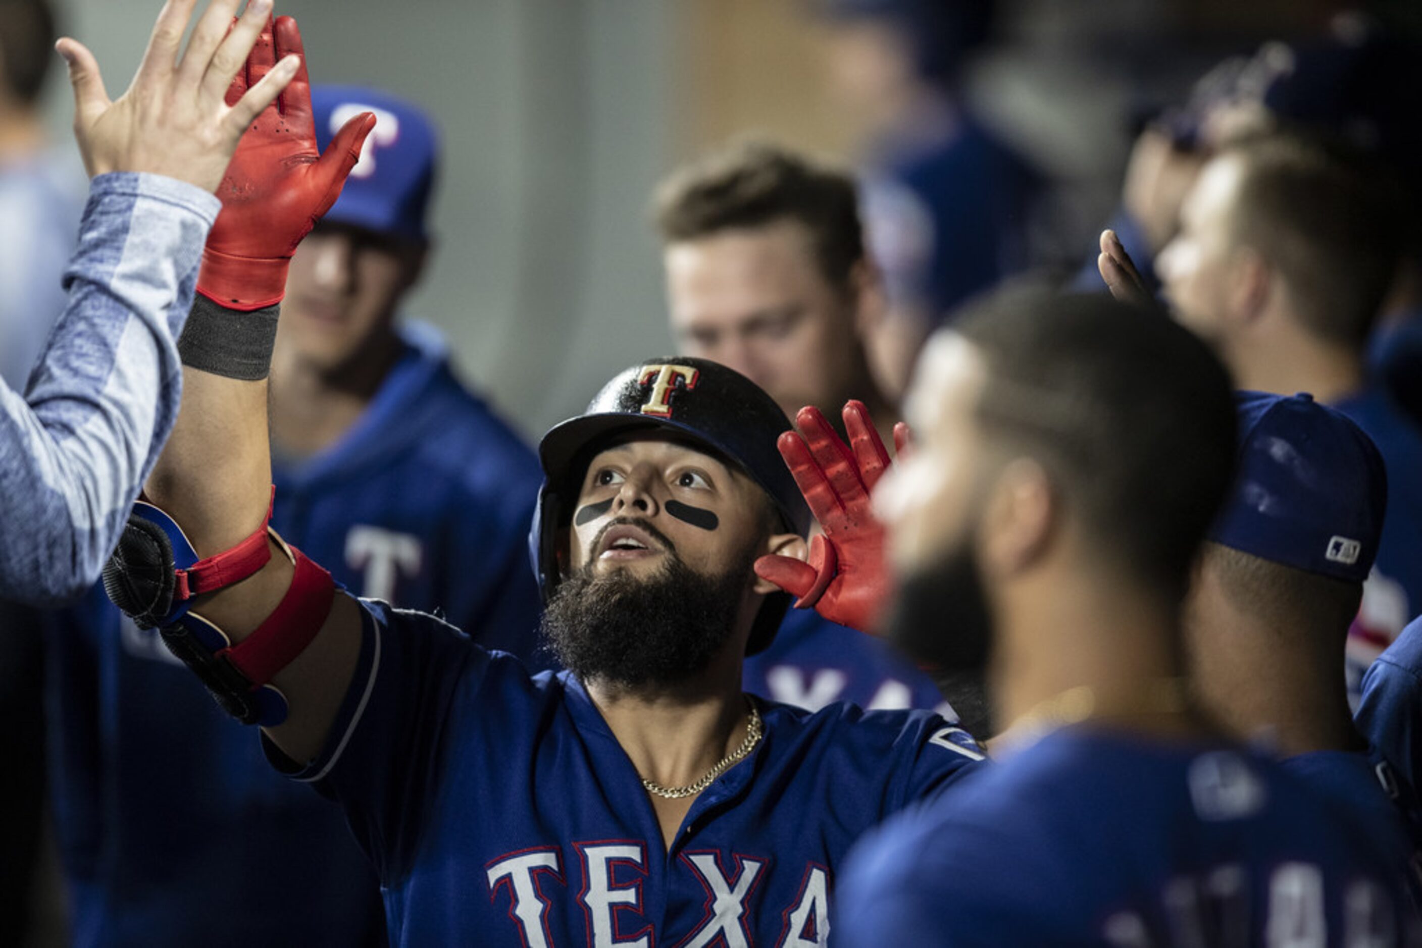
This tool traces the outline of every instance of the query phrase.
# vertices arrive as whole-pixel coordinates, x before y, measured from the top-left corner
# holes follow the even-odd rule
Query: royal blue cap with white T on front
[[[361,112],[375,114],[360,161],[321,220],[375,233],[427,240],[425,213],[439,149],[434,122],[388,92],[358,85],[313,85],[316,144],[324,152],[336,132]]]

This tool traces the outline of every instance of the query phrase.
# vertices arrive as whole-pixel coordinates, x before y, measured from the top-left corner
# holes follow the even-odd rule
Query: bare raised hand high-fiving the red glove
[[[198,0],[168,0],[144,61],[118,101],[109,101],[94,54],[68,37],[55,44],[74,85],[74,138],[90,175],[148,172],[216,190],[242,132],[297,75],[287,57],[232,101],[228,87],[272,11],[252,0],[232,23],[240,0],[212,0],[179,58]]]

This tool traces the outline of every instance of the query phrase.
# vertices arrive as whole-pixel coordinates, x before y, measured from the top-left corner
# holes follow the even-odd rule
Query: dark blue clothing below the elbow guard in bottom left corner
[[[71,944],[384,944],[341,814],[264,767],[155,631],[94,587],[46,617],[44,647]]]

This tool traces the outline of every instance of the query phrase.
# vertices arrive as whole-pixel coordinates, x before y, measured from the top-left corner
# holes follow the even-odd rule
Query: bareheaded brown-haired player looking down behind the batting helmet
[[[786,415],[815,405],[838,419],[859,399],[887,435],[897,411],[865,348],[883,294],[856,192],[849,173],[764,142],[678,168],[656,198],[667,310],[678,352],[737,370]],[[788,613],[747,659],[745,689],[809,711],[946,709],[913,664],[813,610]]]

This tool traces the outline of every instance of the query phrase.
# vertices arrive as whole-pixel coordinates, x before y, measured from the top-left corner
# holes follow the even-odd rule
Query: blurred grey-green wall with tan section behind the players
[[[70,0],[67,31],[127,84],[156,0]],[[1325,0],[1004,0],[971,70],[987,121],[1062,183],[1057,242],[1082,259],[1109,212],[1126,115],[1179,98],[1266,36],[1317,27]],[[428,108],[445,136],[437,252],[411,314],[444,327],[465,375],[526,433],[613,371],[670,350],[647,199],[675,161],[747,131],[852,159],[809,0],[283,0],[317,81]],[[68,88],[48,90],[67,135]]]

